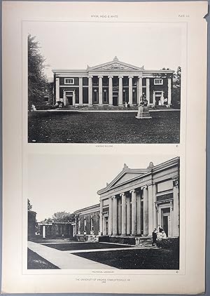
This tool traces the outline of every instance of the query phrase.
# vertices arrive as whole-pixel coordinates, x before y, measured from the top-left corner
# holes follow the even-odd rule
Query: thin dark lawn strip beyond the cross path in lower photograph
[[[92,250],[108,248],[130,248],[130,245],[118,245],[112,243],[44,243],[47,247],[61,251],[67,250]]]

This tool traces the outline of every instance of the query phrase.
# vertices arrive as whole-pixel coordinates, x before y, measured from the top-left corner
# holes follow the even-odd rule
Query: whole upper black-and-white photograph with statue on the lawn
[[[180,142],[181,23],[25,26],[29,143]]]

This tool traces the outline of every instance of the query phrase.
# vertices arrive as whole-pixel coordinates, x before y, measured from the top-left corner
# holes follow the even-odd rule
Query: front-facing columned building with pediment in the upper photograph
[[[149,105],[172,105],[173,70],[111,62],[86,69],[52,69],[55,101],[68,106],[138,105],[144,93]]]

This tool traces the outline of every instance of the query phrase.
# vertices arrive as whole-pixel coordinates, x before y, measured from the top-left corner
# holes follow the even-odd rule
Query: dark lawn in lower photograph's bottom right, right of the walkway
[[[113,250],[74,253],[73,255],[107,264],[118,269],[177,269],[179,253],[163,249]]]

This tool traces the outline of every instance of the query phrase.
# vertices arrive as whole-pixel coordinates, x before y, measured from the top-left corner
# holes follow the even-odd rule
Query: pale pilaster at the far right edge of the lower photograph
[[[173,198],[174,198],[174,207],[173,207],[173,236],[179,236],[179,180],[176,178],[173,180]]]

